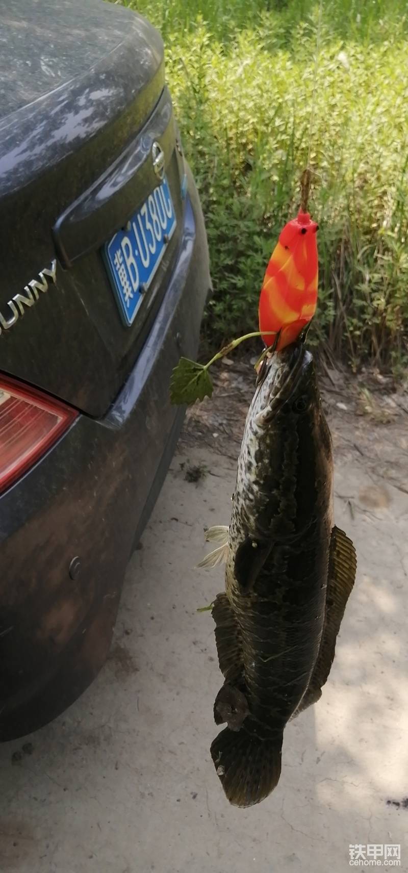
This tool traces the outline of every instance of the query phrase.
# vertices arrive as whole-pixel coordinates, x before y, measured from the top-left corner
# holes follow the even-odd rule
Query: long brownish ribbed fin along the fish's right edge
[[[294,715],[314,704],[322,696],[322,686],[335,657],[335,641],[342,623],[342,616],[356,577],[356,549],[349,537],[338,527],[331,532],[328,557],[328,587],[326,592],[326,615],[319,654],[315,668]]]

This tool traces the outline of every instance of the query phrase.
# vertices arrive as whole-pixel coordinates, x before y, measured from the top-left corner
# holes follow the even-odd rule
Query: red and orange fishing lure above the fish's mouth
[[[269,331],[281,331],[278,349],[288,346],[315,315],[316,230],[318,225],[301,210],[280,233],[259,297],[259,331],[266,346],[272,345]]]

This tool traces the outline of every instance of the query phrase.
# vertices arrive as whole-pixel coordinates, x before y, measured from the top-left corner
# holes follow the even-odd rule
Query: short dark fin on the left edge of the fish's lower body
[[[211,615],[216,624],[215,641],[219,669],[224,674],[225,679],[229,682],[235,682],[242,675],[244,663],[239,625],[225,593],[217,595]]]

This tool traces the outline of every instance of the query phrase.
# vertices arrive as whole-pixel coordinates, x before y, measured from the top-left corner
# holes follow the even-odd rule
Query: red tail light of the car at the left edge
[[[0,492],[28,470],[77,416],[75,409],[0,377]]]

